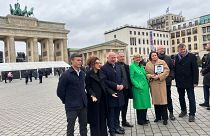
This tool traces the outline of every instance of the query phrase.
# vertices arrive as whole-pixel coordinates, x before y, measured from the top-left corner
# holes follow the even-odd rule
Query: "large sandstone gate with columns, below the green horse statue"
[[[65,61],[67,34],[64,23],[39,21],[33,17],[7,15],[0,17],[0,40],[4,42],[5,62],[16,62],[15,41],[26,43],[28,62]],[[38,54],[41,45],[41,60]]]

